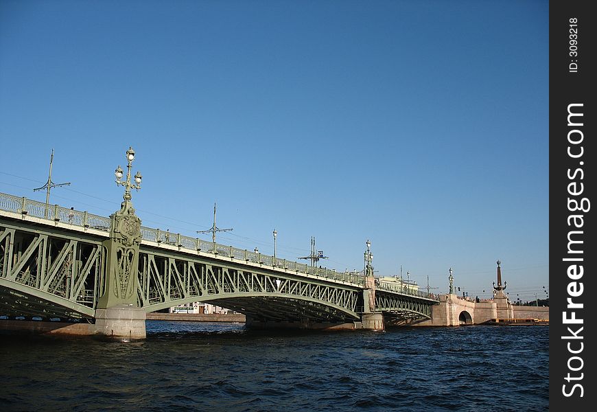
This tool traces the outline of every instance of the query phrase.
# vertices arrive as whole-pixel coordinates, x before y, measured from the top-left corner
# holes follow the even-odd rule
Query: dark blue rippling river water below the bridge
[[[548,326],[0,336],[1,411],[548,411]]]

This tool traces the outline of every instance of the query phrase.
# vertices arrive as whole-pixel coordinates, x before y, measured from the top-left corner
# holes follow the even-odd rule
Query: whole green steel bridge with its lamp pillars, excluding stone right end
[[[194,301],[254,327],[364,328],[431,319],[433,295],[141,226],[128,183],[110,217],[0,193],[0,317],[143,339],[145,313]]]

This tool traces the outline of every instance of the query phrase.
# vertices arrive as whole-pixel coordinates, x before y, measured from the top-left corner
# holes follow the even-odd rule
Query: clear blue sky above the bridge
[[[548,1],[0,1],[0,192],[513,301],[548,288]],[[211,236],[201,236],[210,240]],[[485,293],[482,292],[485,290]]]

